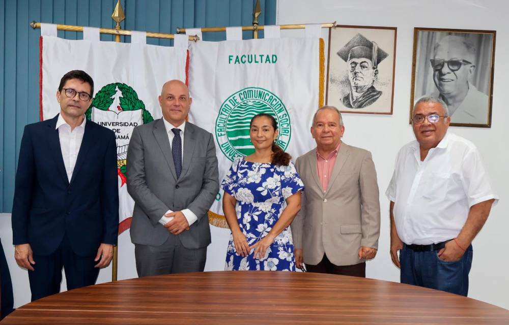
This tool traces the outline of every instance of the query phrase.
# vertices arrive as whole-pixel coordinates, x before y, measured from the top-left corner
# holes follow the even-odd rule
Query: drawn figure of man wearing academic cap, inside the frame
[[[378,64],[388,54],[377,43],[361,34],[355,35],[343,48],[337,51],[348,65],[348,79],[351,90],[341,102],[347,108],[364,108],[375,103],[382,91],[373,85],[378,78]]]

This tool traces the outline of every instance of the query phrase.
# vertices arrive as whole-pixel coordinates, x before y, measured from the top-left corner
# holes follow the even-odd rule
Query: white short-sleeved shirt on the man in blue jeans
[[[419,143],[401,148],[386,191],[394,222],[406,244],[429,245],[456,238],[470,207],[495,199],[483,159],[473,143],[447,133],[420,161]]]

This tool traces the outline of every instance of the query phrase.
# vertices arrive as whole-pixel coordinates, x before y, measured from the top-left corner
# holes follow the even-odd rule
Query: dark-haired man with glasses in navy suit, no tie
[[[29,270],[32,301],[95,284],[117,244],[119,198],[115,134],[84,113],[94,81],[62,77],[60,114],[25,126],[12,209],[16,262]]]

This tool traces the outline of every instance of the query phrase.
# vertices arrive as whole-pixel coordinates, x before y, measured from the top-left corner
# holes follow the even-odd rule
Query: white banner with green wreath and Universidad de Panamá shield
[[[41,117],[60,112],[56,91],[71,70],[94,80],[94,100],[87,118],[117,135],[119,167],[119,234],[129,228],[134,202],[125,185],[126,154],[134,126],[161,117],[157,100],[164,82],[186,81],[186,48],[115,42],[71,41],[42,37]]]

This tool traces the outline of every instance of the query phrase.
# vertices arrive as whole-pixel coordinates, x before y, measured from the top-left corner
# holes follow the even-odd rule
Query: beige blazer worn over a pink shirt
[[[297,158],[304,182],[301,210],[292,222],[295,248],[304,263],[317,265],[324,253],[337,266],[364,262],[360,246],[378,249],[380,201],[371,152],[342,143],[324,192],[316,148]]]

